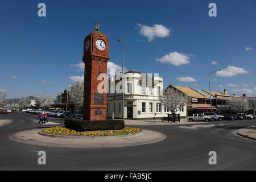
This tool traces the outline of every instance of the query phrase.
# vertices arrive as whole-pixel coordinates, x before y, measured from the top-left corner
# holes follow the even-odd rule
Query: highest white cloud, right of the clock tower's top
[[[146,26],[140,23],[137,23],[141,29],[139,30],[140,34],[148,38],[148,42],[151,42],[155,38],[165,38],[170,35],[171,28],[168,29],[162,24],[154,24],[154,27]]]

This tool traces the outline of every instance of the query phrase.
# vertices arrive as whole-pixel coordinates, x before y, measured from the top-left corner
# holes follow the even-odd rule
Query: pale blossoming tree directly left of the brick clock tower
[[[82,112],[82,106],[84,105],[84,82],[76,82],[70,87],[71,90],[71,102],[79,109],[79,113]]]

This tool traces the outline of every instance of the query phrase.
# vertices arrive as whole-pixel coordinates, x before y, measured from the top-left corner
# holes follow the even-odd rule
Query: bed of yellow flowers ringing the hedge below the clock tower
[[[65,136],[80,136],[80,137],[102,137],[102,136],[119,136],[129,135],[141,132],[141,129],[134,127],[125,127],[122,130],[101,130],[101,131],[83,131],[78,132],[75,130],[69,130],[65,127],[56,126],[44,129],[42,132],[51,135],[65,135]]]

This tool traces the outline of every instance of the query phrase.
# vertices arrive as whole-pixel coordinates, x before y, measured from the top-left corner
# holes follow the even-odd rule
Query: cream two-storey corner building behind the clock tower
[[[131,70],[124,73],[125,119],[160,119],[167,117],[159,95],[163,91],[163,78],[158,74],[145,74]],[[122,73],[109,77],[107,117],[122,118]],[[114,113],[114,114],[113,114]],[[185,111],[181,111],[185,114]]]

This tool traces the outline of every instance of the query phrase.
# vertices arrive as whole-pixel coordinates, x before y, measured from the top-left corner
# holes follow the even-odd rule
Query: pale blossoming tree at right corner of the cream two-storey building
[[[191,97],[171,87],[168,87],[163,91],[163,94],[159,97],[159,100],[164,107],[167,107],[168,110],[171,111],[172,114],[179,111],[181,107],[191,103]]]

